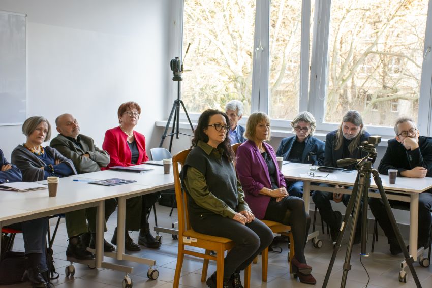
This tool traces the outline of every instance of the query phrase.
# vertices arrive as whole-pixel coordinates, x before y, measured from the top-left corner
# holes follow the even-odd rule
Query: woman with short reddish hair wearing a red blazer
[[[134,131],[138,124],[141,107],[136,102],[126,102],[117,111],[118,127],[107,130],[102,147],[110,155],[112,166],[132,166],[148,160],[145,153],[145,137]],[[125,249],[139,251],[141,247],[133,242],[128,231],[140,231],[138,244],[149,248],[158,248],[161,244],[150,233],[147,215],[150,208],[158,200],[158,194],[148,194],[126,200],[126,238]],[[139,216],[141,215],[141,217]],[[117,244],[117,229],[111,243]]]

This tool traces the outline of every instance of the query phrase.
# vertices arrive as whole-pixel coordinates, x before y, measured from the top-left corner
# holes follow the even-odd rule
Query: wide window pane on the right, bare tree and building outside
[[[380,126],[392,126],[401,114],[417,117],[427,5],[426,0],[331,2],[325,122],[339,122],[349,109],[358,110],[366,124]]]

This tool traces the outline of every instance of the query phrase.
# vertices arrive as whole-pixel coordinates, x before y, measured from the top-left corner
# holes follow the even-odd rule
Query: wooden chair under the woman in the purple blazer
[[[231,148],[233,149],[234,153],[237,153],[237,148],[242,143],[236,143],[231,145]],[[234,163],[235,164],[235,163]],[[292,273],[292,267],[291,267],[291,259],[294,257],[294,240],[293,235],[291,233],[291,227],[288,225],[284,225],[280,222],[270,221],[270,220],[263,220],[261,221],[267,225],[273,233],[286,235],[290,238],[290,253],[288,254],[288,262],[290,264],[290,273]],[[261,252],[261,259],[262,259],[262,281],[267,282],[267,270],[268,270],[268,247],[265,248]],[[254,263],[258,262],[258,258],[254,259]]]

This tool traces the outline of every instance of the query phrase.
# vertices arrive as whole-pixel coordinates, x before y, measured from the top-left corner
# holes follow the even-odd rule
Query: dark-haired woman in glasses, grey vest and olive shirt
[[[189,220],[199,233],[234,241],[224,262],[223,287],[242,287],[240,271],[270,245],[273,233],[252,214],[236,178],[228,116],[218,110],[204,111],[192,139],[192,151],[180,177],[189,201]],[[207,281],[216,287],[216,272]]]

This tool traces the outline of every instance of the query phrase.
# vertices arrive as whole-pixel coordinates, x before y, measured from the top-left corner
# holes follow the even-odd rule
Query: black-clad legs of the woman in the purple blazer
[[[291,226],[294,239],[294,255],[300,263],[306,264],[304,246],[311,225],[311,217],[306,213],[304,200],[296,196],[287,196],[279,202],[271,198],[265,211],[264,219],[281,222]]]

